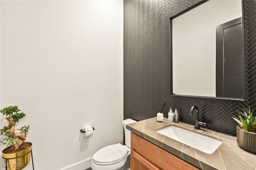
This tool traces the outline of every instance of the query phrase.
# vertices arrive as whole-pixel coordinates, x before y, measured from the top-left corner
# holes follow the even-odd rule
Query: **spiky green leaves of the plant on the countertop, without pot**
[[[245,131],[256,132],[256,116],[252,115],[253,111],[243,108],[243,111],[237,111],[238,117],[232,117]]]

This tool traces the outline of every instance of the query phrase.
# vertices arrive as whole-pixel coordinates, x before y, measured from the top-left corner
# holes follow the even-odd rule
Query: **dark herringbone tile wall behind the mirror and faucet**
[[[234,101],[170,95],[169,18],[198,0],[124,0],[124,119],[156,117],[178,108],[180,121],[194,125],[193,105],[208,128],[236,135],[236,110],[256,108],[256,1],[244,3],[246,100]],[[189,84],[188,84],[189,85]]]

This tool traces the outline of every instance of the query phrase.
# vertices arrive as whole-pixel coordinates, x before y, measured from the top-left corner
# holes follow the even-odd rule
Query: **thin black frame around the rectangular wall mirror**
[[[184,14],[184,13],[186,13],[186,12],[189,12],[190,10],[192,10],[192,9],[194,9],[194,8],[196,8],[196,7],[198,7],[198,6],[200,6],[201,4],[204,4],[205,2],[208,2],[209,0],[201,0],[200,2],[197,2],[196,4],[194,4],[193,6],[190,6],[189,8],[187,8],[187,9],[185,9],[185,10],[183,10],[183,11],[181,11],[181,12],[179,12],[178,14],[175,14],[174,16],[172,16],[172,17],[170,17],[170,40],[169,40],[169,42],[170,42],[170,95],[172,95],[172,96],[184,96],[184,97],[202,97],[202,98],[211,98],[211,99],[228,99],[228,100],[239,100],[239,101],[245,101],[246,100],[246,88],[245,88],[245,85],[246,85],[246,73],[245,73],[245,64],[246,64],[246,59],[245,59],[245,47],[244,47],[244,45],[245,45],[245,30],[244,30],[244,28],[245,28],[245,23],[244,23],[244,21],[245,21],[245,19],[244,19],[244,3],[243,3],[243,0],[241,0],[241,3],[242,3],[242,29],[243,29],[243,46],[242,46],[242,48],[243,48],[243,52],[242,52],[242,54],[243,54],[243,71],[244,71],[244,73],[243,73],[243,98],[241,99],[241,98],[228,98],[228,97],[207,97],[207,96],[192,96],[192,95],[176,95],[176,94],[173,94],[173,80],[172,80],[172,78],[173,78],[173,71],[172,71],[172,58],[173,58],[173,56],[172,56],[172,20],[174,19],[174,18],[177,18],[178,16],[181,16],[182,14]]]

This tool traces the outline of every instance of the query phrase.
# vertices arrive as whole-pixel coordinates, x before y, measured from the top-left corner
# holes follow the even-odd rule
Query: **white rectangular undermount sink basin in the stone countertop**
[[[214,138],[175,126],[166,127],[156,132],[208,154],[212,154],[222,144],[221,141]]]

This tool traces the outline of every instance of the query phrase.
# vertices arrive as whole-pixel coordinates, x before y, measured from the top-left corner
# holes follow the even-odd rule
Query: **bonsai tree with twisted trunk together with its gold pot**
[[[24,142],[28,134],[29,126],[15,130],[15,125],[23,119],[26,114],[20,113],[17,106],[6,107],[0,112],[6,115],[8,125],[0,129],[0,134],[6,136],[1,142],[8,146],[2,151],[4,166],[8,170],[21,170],[30,161],[32,143]],[[33,161],[33,160],[32,160]]]

